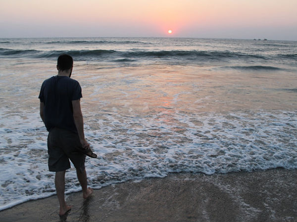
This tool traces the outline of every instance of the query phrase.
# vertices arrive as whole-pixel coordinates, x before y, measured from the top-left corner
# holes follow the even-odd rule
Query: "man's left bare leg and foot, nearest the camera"
[[[54,185],[56,187],[56,192],[60,204],[60,216],[63,216],[66,214],[68,211],[71,210],[71,206],[67,206],[65,202],[65,197],[64,197],[64,190],[65,190],[65,170],[64,171],[59,171],[55,173],[54,177]]]

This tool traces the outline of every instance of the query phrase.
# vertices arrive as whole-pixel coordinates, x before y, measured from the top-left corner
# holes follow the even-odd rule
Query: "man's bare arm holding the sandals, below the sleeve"
[[[73,118],[75,122],[75,126],[78,132],[78,136],[83,148],[88,148],[90,145],[85,139],[84,133],[84,119],[83,114],[80,107],[80,100],[72,100],[72,108],[73,108]]]

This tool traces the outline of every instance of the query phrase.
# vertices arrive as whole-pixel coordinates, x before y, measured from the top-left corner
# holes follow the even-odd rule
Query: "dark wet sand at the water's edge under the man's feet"
[[[169,174],[109,185],[87,200],[82,192],[66,198],[73,207],[65,218],[54,195],[1,211],[0,221],[294,222],[297,170]]]

